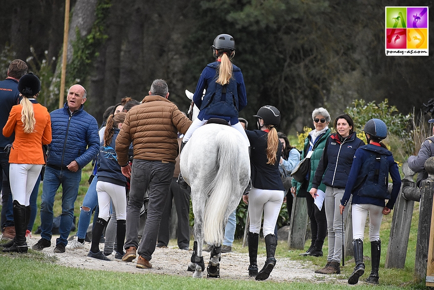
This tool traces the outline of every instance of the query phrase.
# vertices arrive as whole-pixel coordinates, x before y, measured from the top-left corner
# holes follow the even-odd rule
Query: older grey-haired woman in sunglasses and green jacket
[[[301,158],[310,157],[310,172],[306,175],[303,182],[292,179],[292,194],[297,197],[305,197],[307,203],[307,214],[310,219],[312,230],[312,241],[306,253],[301,256],[323,256],[323,244],[327,234],[327,219],[325,218],[324,202],[321,211],[317,206],[314,206],[315,199],[310,195],[309,191],[312,188],[312,181],[315,176],[321,156],[323,155],[324,146],[328,136],[330,136],[330,114],[324,108],[314,109],[312,112],[312,120],[315,129],[309,132],[309,135],[304,140],[304,149]],[[321,183],[318,187],[325,191],[325,185]]]

